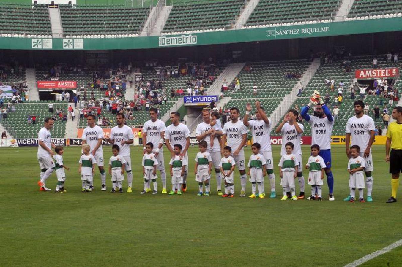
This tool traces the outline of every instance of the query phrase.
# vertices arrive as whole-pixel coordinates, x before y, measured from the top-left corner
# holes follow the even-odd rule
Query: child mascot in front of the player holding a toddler
[[[209,179],[211,179],[212,157],[207,152],[207,141],[200,141],[198,148],[200,152],[195,156],[195,181],[198,182],[199,192],[197,196],[209,196]],[[203,183],[205,184],[205,194],[203,194]]]

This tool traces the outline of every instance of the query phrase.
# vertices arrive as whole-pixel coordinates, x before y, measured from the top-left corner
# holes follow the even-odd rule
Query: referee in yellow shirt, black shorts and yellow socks
[[[397,106],[392,110],[392,118],[396,122],[392,122],[388,126],[387,142],[385,145],[385,161],[390,163],[390,173],[392,174],[392,196],[387,200],[387,203],[396,202],[399,173],[402,171],[402,106]],[[392,149],[391,154],[390,149]]]

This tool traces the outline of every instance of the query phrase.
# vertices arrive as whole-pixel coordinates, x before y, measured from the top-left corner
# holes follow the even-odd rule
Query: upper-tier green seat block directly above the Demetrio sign
[[[224,29],[236,18],[243,0],[197,1],[173,6],[163,33],[194,31],[200,29]]]

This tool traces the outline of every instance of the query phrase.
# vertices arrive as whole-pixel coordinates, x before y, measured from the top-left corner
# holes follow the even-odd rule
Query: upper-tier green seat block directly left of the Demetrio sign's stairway
[[[124,5],[59,5],[59,8],[64,35],[137,35],[150,13],[150,8]]]

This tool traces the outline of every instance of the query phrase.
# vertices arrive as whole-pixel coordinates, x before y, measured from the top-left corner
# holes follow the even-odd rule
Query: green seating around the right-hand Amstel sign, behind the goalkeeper
[[[309,98],[313,94],[314,90],[318,90],[324,100],[325,95],[328,93],[330,95],[329,98],[329,104],[328,107],[330,108],[332,114],[333,114],[333,108],[335,105],[338,106],[339,112],[338,112],[338,119],[335,120],[334,128],[332,135],[345,135],[345,125],[347,120],[355,115],[354,109],[353,109],[353,102],[355,100],[360,99],[359,98],[359,91],[356,90],[355,93],[355,98],[351,99],[351,86],[353,86],[352,82],[354,79],[354,74],[355,74],[355,69],[367,69],[372,67],[372,59],[373,55],[368,55],[368,56],[355,56],[355,57],[350,57],[349,59],[342,59],[342,60],[334,60],[332,63],[324,64],[320,66],[320,68],[316,71],[316,74],[312,77],[310,83],[308,86],[303,91],[303,97],[298,98],[292,105],[291,108],[295,108],[299,112],[301,111],[301,108],[303,105],[308,104]],[[378,55],[378,67],[402,67],[402,63],[387,63],[386,61],[386,55]],[[351,66],[351,71],[350,72],[345,72],[343,63],[345,60],[350,61],[350,66]],[[335,87],[334,91],[331,92],[330,87],[326,86],[324,84],[324,79],[334,79],[335,81]],[[343,86],[343,101],[341,105],[338,105],[337,100],[335,100],[335,96],[337,96],[337,87],[338,83],[343,81],[345,86]],[[398,79],[398,81],[394,84],[394,88],[399,90],[400,92],[400,85],[401,81]],[[399,98],[402,95],[399,94]],[[384,98],[382,96],[376,96],[375,94],[369,95],[367,94],[363,100],[365,104],[369,105],[369,110],[367,115],[371,116],[374,121],[375,121],[375,126],[380,126],[381,128],[384,128],[384,124],[382,122],[381,116],[379,119],[375,120],[373,108],[375,106],[378,106],[380,109],[380,114],[383,111],[384,107],[387,107],[388,110],[392,110],[394,106],[396,106],[397,102],[394,101],[393,104],[388,104],[388,98]],[[310,111],[310,114],[313,114],[312,111]],[[388,112],[390,114],[390,112]],[[278,122],[278,124],[283,120],[283,118]],[[304,125],[304,135],[311,135],[311,127],[310,124],[308,124],[304,120],[300,120]],[[278,125],[277,124],[277,125]],[[277,126],[276,125],[276,126]],[[276,128],[276,127],[275,127]],[[280,135],[276,134],[275,128],[271,132],[271,135]]]

